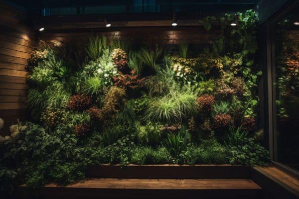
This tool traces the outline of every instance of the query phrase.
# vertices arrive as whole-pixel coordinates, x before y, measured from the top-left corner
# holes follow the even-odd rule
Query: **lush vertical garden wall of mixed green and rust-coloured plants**
[[[255,125],[257,16],[207,17],[207,31],[215,20],[222,33],[201,51],[40,41],[27,68],[31,118],[1,137],[2,185],[71,183],[103,163],[267,164]]]

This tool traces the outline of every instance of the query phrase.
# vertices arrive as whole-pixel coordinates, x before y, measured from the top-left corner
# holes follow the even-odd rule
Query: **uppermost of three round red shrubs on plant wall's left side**
[[[71,110],[86,110],[91,106],[91,99],[85,95],[75,95],[71,97],[69,101],[68,108]]]

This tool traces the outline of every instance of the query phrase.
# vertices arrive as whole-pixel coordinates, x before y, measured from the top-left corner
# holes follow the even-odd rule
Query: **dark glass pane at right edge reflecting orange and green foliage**
[[[278,162],[299,170],[299,15],[276,25]]]

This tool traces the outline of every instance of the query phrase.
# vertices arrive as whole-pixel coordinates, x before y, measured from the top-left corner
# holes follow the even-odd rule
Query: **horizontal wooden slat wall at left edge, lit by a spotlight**
[[[18,10],[0,4],[0,117],[4,120],[0,135],[9,134],[9,126],[17,119],[26,119],[25,67],[34,32],[23,24],[24,18]]]

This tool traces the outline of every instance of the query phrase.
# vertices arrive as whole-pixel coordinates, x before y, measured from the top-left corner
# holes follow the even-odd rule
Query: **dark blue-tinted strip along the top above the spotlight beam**
[[[256,8],[258,0],[6,0],[34,15],[136,12],[223,13]]]

